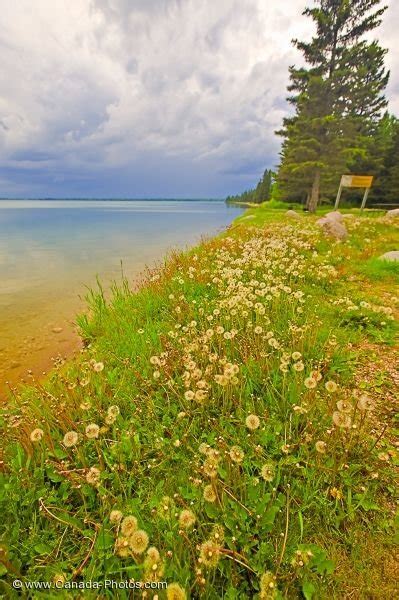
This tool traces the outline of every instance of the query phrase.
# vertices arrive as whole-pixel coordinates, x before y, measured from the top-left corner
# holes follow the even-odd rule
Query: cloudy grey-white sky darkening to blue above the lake
[[[310,0],[311,3],[312,0]],[[223,197],[276,165],[306,0],[0,0],[0,197]],[[378,32],[399,115],[399,2]]]

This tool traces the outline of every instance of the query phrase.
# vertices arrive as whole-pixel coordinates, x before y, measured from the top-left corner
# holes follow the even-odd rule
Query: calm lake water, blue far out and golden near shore
[[[134,281],[240,214],[222,201],[0,200],[0,388],[78,345],[87,287]]]

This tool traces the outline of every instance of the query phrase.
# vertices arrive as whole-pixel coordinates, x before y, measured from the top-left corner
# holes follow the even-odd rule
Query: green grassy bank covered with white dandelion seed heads
[[[16,577],[394,597],[398,266],[375,257],[399,228],[357,213],[339,244],[283,214],[250,209],[137,294],[93,293],[85,350],[11,399],[7,597]],[[71,597],[31,597],[52,594]]]

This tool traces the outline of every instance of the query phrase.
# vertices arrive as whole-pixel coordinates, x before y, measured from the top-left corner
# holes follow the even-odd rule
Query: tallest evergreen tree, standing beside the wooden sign
[[[309,210],[329,193],[356,156],[367,152],[367,139],[386,106],[389,73],[386,51],[362,39],[381,23],[380,0],[318,0],[304,14],[316,36],[294,40],[307,68],[290,68],[293,117],[278,132],[282,145],[279,185],[290,198],[306,196]]]

